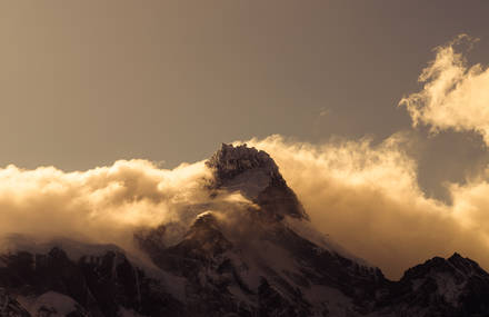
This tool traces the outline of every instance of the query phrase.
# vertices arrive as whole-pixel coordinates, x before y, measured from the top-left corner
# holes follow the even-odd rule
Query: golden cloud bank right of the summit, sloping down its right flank
[[[433,256],[462,252],[489,268],[489,182],[449,187],[453,204],[427,198],[417,165],[395,135],[325,145],[280,136],[248,143],[271,155],[311,222],[389,277]]]

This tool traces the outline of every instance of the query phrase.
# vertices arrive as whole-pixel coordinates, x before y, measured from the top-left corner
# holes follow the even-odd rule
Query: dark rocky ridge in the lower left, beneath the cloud
[[[69,296],[79,306],[70,313],[73,317],[119,316],[121,307],[148,316],[178,316],[181,309],[158,280],[146,277],[122,254],[108,251],[76,262],[63,250],[53,248],[47,255],[24,251],[3,255],[2,261],[2,287],[22,297],[36,298],[48,291]],[[49,308],[44,310],[50,316]]]

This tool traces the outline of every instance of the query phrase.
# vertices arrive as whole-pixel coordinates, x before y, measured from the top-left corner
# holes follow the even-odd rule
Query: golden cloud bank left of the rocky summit
[[[173,170],[146,160],[76,172],[8,166],[0,169],[0,232],[130,249],[138,228],[189,221],[184,210],[207,199],[202,188],[210,177],[203,161]]]

